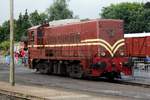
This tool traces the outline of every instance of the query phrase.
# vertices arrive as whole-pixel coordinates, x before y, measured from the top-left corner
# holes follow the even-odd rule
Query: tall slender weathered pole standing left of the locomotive
[[[10,72],[9,82],[15,85],[15,66],[14,66],[14,0],[10,0]]]

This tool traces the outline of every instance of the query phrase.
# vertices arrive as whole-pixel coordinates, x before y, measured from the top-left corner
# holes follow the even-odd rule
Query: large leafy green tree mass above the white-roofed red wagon
[[[147,7],[146,7],[147,8]],[[143,3],[120,3],[105,7],[100,14],[102,18],[122,19],[125,22],[125,33],[150,31],[150,11]]]

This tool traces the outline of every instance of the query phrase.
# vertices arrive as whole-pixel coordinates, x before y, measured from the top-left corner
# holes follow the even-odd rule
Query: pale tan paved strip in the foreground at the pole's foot
[[[15,87],[10,86],[8,83],[0,82],[0,89],[9,91],[8,94],[14,94],[15,96],[22,96],[22,98],[27,98],[31,100],[132,100],[128,97],[120,97],[113,95],[104,95],[104,94],[90,94],[81,91],[67,91],[60,89],[52,89],[45,87],[34,87],[34,86],[24,86],[24,85],[15,85]],[[1,92],[1,91],[0,91]],[[19,93],[19,94],[17,94]],[[5,92],[6,94],[6,92]],[[0,95],[2,98],[11,98],[10,100],[18,100],[19,98]],[[40,97],[40,98],[38,98]],[[5,99],[3,99],[5,100]],[[23,100],[23,99],[19,99]]]

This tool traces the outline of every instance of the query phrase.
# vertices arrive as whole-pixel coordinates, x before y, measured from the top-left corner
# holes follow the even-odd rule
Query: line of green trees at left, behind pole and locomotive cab
[[[28,28],[39,25],[46,20],[73,18],[73,12],[68,9],[67,1],[69,0],[54,0],[53,5],[47,9],[46,13],[39,13],[35,10],[28,14],[27,9],[24,14],[20,13],[19,18],[14,21],[15,41],[20,41],[22,37],[26,37]],[[77,18],[77,16],[74,18]],[[3,25],[0,26],[0,42],[9,39],[9,27],[9,21],[5,21]]]

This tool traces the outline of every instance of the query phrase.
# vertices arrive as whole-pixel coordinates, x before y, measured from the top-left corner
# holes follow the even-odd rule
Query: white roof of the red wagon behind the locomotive
[[[125,38],[146,37],[146,36],[150,36],[150,33],[129,33],[129,34],[124,34]]]

